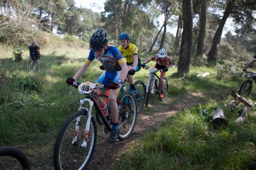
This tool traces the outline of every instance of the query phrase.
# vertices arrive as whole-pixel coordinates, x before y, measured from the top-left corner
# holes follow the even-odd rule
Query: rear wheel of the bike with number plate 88
[[[126,109],[123,105],[118,103],[118,121],[120,131],[118,139],[123,141],[132,134],[132,131],[135,128],[137,119],[137,101],[130,91],[121,93],[117,100],[123,103],[127,108]]]

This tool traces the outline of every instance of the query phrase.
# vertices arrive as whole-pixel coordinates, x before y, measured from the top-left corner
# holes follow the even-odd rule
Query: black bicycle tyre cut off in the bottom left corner
[[[31,170],[27,156],[14,147],[0,147],[0,169]]]

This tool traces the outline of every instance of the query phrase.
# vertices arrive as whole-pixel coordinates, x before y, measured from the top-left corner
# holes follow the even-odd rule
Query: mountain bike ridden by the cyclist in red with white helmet
[[[156,89],[155,95],[160,95],[160,91],[161,91],[160,77],[156,73],[158,71],[162,72],[162,70],[159,70],[157,68],[149,68],[148,66],[145,66],[144,69],[149,70],[149,77],[148,77],[148,83],[147,83],[147,97],[145,102],[145,106],[148,106],[150,94],[154,93],[154,89]],[[161,101],[166,100],[168,96],[168,80],[166,77],[164,77],[163,83],[164,83],[163,98],[159,98]]]

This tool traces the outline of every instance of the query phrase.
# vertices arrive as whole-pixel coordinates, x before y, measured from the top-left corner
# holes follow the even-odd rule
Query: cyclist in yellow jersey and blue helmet
[[[133,74],[141,70],[141,58],[139,57],[139,51],[136,45],[130,43],[129,34],[120,34],[118,40],[120,40],[121,43],[118,49],[121,52],[121,54],[126,58],[126,64],[129,68],[127,79],[131,85],[131,92],[133,93],[133,95],[135,95],[137,91],[134,85]]]

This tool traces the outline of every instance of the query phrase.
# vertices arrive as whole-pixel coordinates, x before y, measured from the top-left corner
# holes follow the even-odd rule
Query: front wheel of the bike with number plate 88
[[[88,166],[96,145],[97,127],[94,117],[91,117],[89,132],[85,131],[87,119],[88,111],[80,110],[62,125],[53,149],[54,169],[86,169]],[[84,138],[86,147],[81,146]]]

